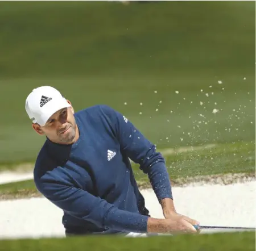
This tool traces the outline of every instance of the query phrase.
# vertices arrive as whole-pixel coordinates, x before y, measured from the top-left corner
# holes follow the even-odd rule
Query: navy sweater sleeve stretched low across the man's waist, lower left
[[[59,174],[46,173],[35,181],[37,189],[46,198],[67,214],[90,221],[100,228],[111,228],[125,232],[147,232],[148,216],[119,210],[106,200],[71,185]]]

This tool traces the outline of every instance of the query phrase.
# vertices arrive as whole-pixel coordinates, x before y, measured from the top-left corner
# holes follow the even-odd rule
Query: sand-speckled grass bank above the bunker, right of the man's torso
[[[255,173],[255,142],[222,144],[214,148],[171,154],[165,157],[171,180],[197,175]],[[134,167],[137,180],[147,176]]]

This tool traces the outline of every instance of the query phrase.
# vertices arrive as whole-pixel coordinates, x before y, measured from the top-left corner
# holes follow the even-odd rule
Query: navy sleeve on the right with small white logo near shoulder
[[[104,106],[102,110],[112,122],[122,150],[131,160],[140,165],[143,173],[148,175],[158,200],[173,199],[165,160],[162,154],[156,152],[155,145],[120,112],[109,106]]]

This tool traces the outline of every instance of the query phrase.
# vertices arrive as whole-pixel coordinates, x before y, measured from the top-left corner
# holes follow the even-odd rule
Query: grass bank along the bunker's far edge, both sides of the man
[[[180,184],[185,182],[188,177],[213,174],[245,173],[255,175],[255,142],[203,147],[192,152],[164,154],[164,157],[173,183]],[[139,170],[139,166],[133,163],[133,170],[139,187],[150,187],[147,175]],[[34,181],[0,185],[0,198],[24,196],[40,196]]]

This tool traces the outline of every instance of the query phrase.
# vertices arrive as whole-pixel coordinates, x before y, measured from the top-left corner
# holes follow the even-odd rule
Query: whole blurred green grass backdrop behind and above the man
[[[1,1],[0,163],[35,160],[24,103],[41,85],[158,148],[255,143],[255,2]]]

